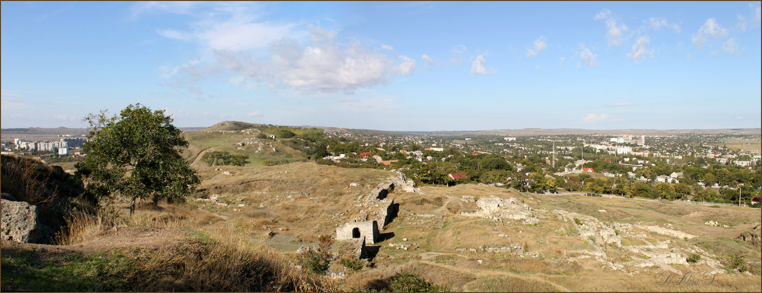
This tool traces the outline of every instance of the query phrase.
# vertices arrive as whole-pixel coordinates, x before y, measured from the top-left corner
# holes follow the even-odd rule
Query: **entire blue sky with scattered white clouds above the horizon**
[[[760,2],[2,2],[2,127],[760,127]]]

